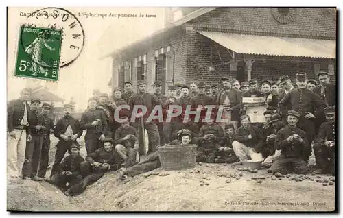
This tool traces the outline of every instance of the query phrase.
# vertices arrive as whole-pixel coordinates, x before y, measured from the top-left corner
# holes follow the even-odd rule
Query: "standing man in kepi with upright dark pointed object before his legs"
[[[138,86],[138,92],[134,93],[134,95],[132,95],[132,97],[130,98],[128,102],[130,106],[130,114],[132,114],[133,112],[134,105],[141,105],[147,108],[147,113],[143,115],[143,121],[144,121],[144,128],[145,130],[147,130],[147,134],[149,136],[148,153],[151,154],[152,152],[156,151],[156,147],[160,145],[160,134],[158,133],[157,125],[153,122],[147,122],[147,118],[150,116],[152,109],[156,105],[162,105],[162,102],[156,97],[156,95],[147,93],[147,90],[146,90],[147,82],[145,82],[145,80],[139,80],[137,82],[137,86]],[[137,115],[139,115],[139,112],[137,113]],[[135,122],[132,123],[132,125],[138,130],[139,128],[138,122],[137,122],[138,117],[134,117],[134,118],[131,117],[131,121],[132,119],[135,119]]]

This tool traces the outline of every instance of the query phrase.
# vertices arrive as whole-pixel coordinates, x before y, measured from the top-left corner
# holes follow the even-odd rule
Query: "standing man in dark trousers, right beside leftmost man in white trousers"
[[[39,180],[36,176],[37,164],[40,159],[40,151],[43,145],[43,123],[42,114],[38,112],[40,99],[31,99],[31,111],[29,112],[29,128],[32,140],[27,142],[25,149],[25,162],[22,173],[24,180]]]

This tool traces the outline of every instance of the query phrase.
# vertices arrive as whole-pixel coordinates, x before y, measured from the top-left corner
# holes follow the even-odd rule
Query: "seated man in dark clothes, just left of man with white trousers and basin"
[[[219,149],[216,153],[215,163],[233,163],[239,161],[235,152],[233,152],[233,140],[235,137],[235,127],[233,123],[225,125],[224,137],[219,141]]]

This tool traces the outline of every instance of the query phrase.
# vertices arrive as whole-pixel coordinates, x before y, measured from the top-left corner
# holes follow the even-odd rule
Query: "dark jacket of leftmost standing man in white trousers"
[[[26,101],[26,108],[27,108],[27,122],[29,122],[29,104]],[[17,125],[20,125],[21,120],[24,117],[24,110],[25,106],[23,104],[23,101],[21,99],[12,100],[8,103],[7,108],[7,121],[8,121],[8,132],[12,132],[14,130],[14,127]],[[26,128],[26,133],[31,134],[30,129]]]

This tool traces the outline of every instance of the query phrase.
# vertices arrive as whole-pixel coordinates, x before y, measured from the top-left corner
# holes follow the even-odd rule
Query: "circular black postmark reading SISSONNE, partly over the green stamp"
[[[82,24],[73,13],[64,8],[43,8],[29,13],[24,26],[62,30],[60,62],[58,64],[60,68],[73,63],[80,56],[84,47]],[[27,42],[23,42],[22,37],[21,43],[24,48],[27,47]]]

